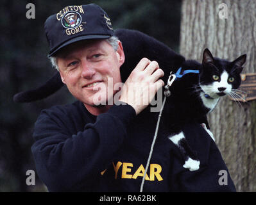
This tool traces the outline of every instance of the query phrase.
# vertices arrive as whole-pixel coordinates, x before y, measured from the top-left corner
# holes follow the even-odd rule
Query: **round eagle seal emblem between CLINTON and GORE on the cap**
[[[64,28],[76,28],[81,24],[81,15],[78,12],[67,12],[62,17],[62,26]]]

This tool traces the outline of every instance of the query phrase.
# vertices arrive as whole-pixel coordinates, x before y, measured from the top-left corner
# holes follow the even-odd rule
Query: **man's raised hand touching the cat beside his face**
[[[159,79],[162,76],[164,71],[159,69],[157,61],[142,58],[124,83],[119,101],[130,104],[138,115],[164,86],[164,81]]]

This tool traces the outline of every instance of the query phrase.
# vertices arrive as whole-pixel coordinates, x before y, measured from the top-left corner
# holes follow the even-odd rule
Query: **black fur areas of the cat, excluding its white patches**
[[[186,74],[171,86],[171,97],[167,98],[166,107],[161,125],[169,136],[176,135],[182,131],[182,127],[189,122],[205,123],[209,128],[206,114],[210,111],[201,101],[201,84],[208,85],[212,82],[212,75],[220,73],[225,69],[235,77],[234,88],[241,84],[239,76],[242,71],[246,55],[237,61],[229,62],[219,58],[213,58],[208,49],[203,53],[203,63],[194,60],[185,60],[183,56],[175,53],[166,45],[155,38],[149,37],[139,31],[129,29],[117,29],[115,35],[121,40],[124,48],[125,61],[121,66],[122,81],[126,81],[141,58],[148,58],[158,62],[159,67],[164,70],[162,78],[167,82],[170,71],[176,72],[180,67],[182,70],[200,70],[200,74]],[[39,88],[21,92],[13,97],[15,102],[31,102],[46,98],[62,87],[63,83],[58,72],[49,79],[47,83]],[[163,88],[164,89],[164,88]],[[157,116],[157,115],[155,115]],[[196,160],[196,154],[189,148],[185,138],[179,142],[180,151],[184,160],[188,157]]]

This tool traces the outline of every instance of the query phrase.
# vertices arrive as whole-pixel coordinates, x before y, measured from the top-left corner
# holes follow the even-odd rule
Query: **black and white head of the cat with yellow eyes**
[[[216,99],[237,89],[241,85],[240,73],[245,61],[246,54],[227,61],[214,58],[209,49],[205,49],[200,69],[200,87],[205,96]]]

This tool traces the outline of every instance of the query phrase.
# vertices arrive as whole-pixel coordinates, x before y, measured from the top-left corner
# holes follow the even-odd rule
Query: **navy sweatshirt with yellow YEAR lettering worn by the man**
[[[114,105],[98,117],[79,101],[43,110],[31,147],[37,174],[50,192],[139,192],[156,120],[143,111],[136,116],[130,105]],[[178,147],[159,131],[144,192],[235,192],[205,129],[189,124],[183,132],[198,153],[200,169],[183,168]],[[219,184],[221,170],[227,185]]]

